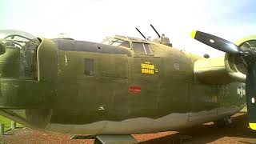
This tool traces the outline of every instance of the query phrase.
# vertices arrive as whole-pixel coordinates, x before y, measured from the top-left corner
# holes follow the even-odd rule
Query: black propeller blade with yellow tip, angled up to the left
[[[242,50],[233,42],[229,42],[226,39],[219,38],[212,34],[193,30],[191,33],[191,37],[198,40],[199,42],[206,44],[207,46],[211,46],[217,50],[221,50],[228,54],[242,54]]]

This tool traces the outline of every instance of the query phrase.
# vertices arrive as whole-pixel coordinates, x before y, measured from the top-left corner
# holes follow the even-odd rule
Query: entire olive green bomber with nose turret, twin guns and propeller
[[[0,114],[38,130],[134,142],[130,134],[224,126],[247,103],[256,129],[256,36],[234,44],[192,33],[222,58],[142,36],[95,43],[0,30]]]

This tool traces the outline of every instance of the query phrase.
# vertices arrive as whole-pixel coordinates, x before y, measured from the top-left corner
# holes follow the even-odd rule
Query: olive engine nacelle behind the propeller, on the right
[[[235,42],[242,50],[256,49],[256,35]],[[221,58],[202,58],[194,62],[194,74],[207,84],[246,82],[246,62],[242,56],[225,54]]]

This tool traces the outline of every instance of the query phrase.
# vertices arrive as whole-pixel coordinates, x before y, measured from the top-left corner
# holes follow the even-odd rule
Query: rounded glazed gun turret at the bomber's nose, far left
[[[0,45],[5,53],[0,55],[2,78],[36,78],[36,49],[38,38],[19,30],[0,30]]]

